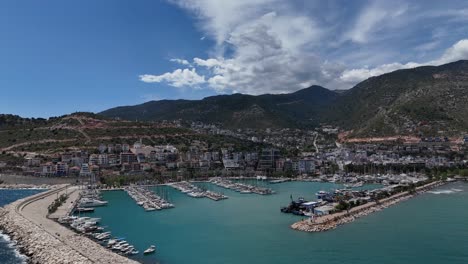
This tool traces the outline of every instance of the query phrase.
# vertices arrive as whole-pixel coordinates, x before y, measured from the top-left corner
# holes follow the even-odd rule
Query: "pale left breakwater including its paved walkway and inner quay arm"
[[[69,193],[69,198],[52,216],[69,212],[79,197],[75,188],[54,186],[0,208],[0,228],[18,242],[32,263],[137,263],[47,217],[48,206],[64,193]]]

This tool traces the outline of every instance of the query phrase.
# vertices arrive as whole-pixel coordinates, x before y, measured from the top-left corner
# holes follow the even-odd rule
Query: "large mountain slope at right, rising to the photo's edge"
[[[356,136],[436,135],[468,128],[468,61],[398,70],[344,93],[322,118]]]

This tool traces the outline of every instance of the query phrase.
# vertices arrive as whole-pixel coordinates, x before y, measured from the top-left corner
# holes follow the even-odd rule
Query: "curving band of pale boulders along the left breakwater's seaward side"
[[[46,192],[48,193],[48,192]],[[138,263],[115,254],[87,237],[70,231],[60,236],[50,233],[42,224],[34,223],[21,214],[21,207],[44,193],[36,194],[0,208],[0,229],[17,244],[29,263]],[[59,225],[45,219],[45,225]]]

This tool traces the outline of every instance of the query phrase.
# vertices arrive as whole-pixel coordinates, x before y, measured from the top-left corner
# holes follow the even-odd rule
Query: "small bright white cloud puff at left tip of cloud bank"
[[[198,88],[205,83],[205,76],[200,76],[195,69],[177,69],[161,75],[144,74],[140,75],[140,80],[146,83],[166,82],[174,87],[190,86]]]

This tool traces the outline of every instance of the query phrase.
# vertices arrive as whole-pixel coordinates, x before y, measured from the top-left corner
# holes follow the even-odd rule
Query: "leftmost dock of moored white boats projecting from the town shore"
[[[156,195],[154,192],[140,186],[129,186],[124,188],[125,192],[133,200],[142,206],[145,211],[154,211],[173,208],[174,205]]]

